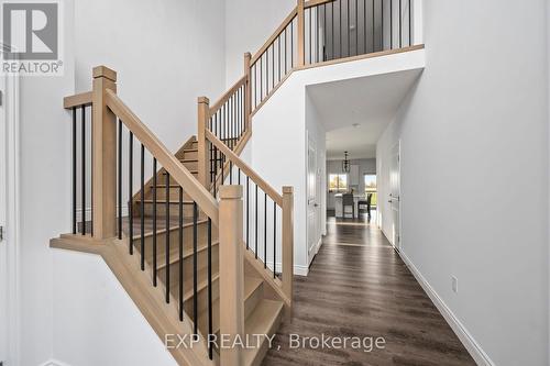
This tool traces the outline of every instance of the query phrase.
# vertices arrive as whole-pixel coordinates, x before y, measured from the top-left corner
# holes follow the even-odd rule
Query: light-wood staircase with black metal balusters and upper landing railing
[[[241,79],[213,104],[198,98],[198,133],[175,154],[119,98],[114,70],[94,68],[92,90],[64,100],[73,117],[73,230],[51,246],[100,255],[180,365],[260,365],[266,336],[292,319],[294,193],[279,193],[239,157],[254,113],[295,71],[421,47],[411,45],[411,0],[399,1],[398,42],[393,25],[375,31],[397,24],[394,1],[360,0],[352,48],[349,1],[348,25],[334,23],[344,1],[298,0],[260,51],[244,55]],[[346,49],[334,34],[348,38]],[[78,218],[77,202],[91,203],[91,217]],[[175,346],[174,334],[198,342]],[[255,334],[264,336],[254,346],[220,343]]]

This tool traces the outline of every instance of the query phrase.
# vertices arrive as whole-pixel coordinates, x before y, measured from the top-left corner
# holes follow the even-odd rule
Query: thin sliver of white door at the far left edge
[[[8,151],[6,79],[0,76],[0,362],[8,359],[8,248],[6,237]]]

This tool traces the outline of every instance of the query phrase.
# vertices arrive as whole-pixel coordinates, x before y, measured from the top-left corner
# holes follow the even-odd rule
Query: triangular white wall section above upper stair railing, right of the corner
[[[254,55],[296,7],[296,0],[228,0],[226,86],[244,75],[244,53]]]

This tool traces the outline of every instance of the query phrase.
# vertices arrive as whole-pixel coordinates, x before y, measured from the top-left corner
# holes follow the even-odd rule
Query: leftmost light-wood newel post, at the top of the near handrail
[[[107,89],[117,92],[117,73],[106,66],[92,70],[91,155],[94,237],[117,235],[117,118],[107,107]]]

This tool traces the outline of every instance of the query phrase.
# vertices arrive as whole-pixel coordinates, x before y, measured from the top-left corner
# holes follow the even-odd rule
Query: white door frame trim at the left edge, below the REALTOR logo
[[[0,46],[2,46],[0,44]],[[2,359],[4,366],[19,365],[19,330],[20,330],[20,276],[19,276],[19,77],[16,75],[0,75],[4,84],[2,104],[6,112],[6,142],[1,142],[6,148],[6,173],[7,173],[7,207],[6,207],[6,232],[4,241],[0,245],[7,248],[7,273],[8,273],[8,326],[7,336],[8,359]],[[4,144],[6,143],[6,144]]]

